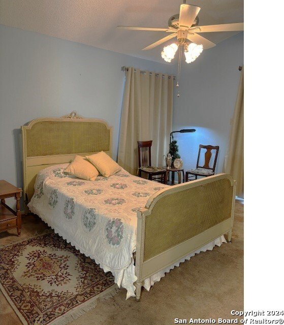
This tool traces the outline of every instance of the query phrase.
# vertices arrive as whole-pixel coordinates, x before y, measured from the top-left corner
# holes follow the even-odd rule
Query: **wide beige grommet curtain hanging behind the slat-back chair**
[[[137,141],[152,140],[151,164],[163,166],[173,119],[173,76],[129,68],[126,73],[117,162],[136,175]]]

